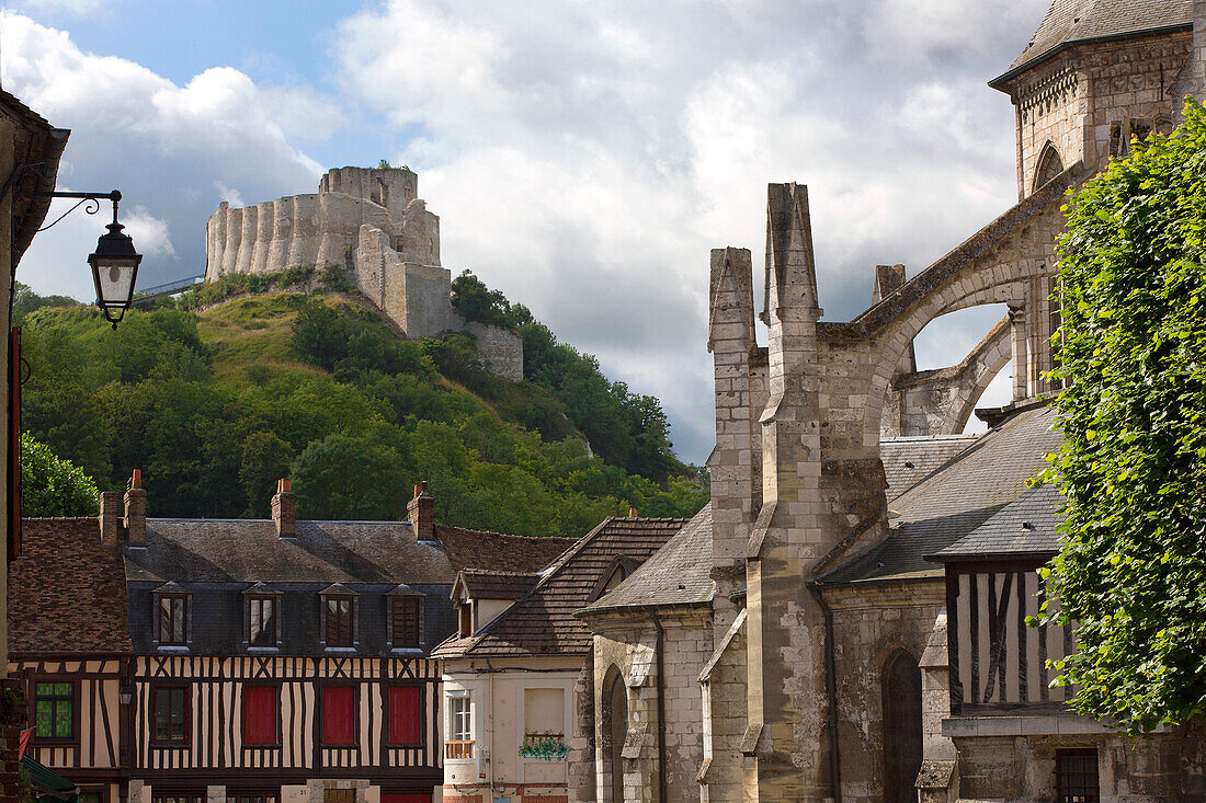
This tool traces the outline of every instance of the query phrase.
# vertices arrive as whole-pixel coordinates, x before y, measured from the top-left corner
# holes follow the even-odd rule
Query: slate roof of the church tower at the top
[[[1009,69],[990,83],[999,87],[1023,70],[1078,42],[1122,39],[1166,29],[1192,30],[1193,13],[1194,0],[1054,0],[1030,43]]]

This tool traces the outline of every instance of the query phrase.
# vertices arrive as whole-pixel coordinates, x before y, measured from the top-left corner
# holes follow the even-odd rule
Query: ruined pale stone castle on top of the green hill
[[[492,371],[522,380],[520,338],[469,324],[452,309],[440,218],[417,194],[418,176],[408,168],[333,168],[317,193],[242,209],[223,201],[206,230],[205,280],[334,266],[408,336],[468,329]]]

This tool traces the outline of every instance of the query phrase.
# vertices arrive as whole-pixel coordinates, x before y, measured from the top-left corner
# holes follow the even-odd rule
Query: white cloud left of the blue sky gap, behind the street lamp
[[[329,136],[341,122],[312,89],[262,87],[232,68],[178,86],[134,61],[81,51],[68,33],[12,11],[0,11],[0,40],[5,89],[72,129],[60,186],[122,191],[122,222],[145,256],[142,286],[204,271],[205,221],[221,200],[312,189],[322,168],[293,141]],[[80,215],[37,236],[22,281],[89,297],[87,272],[71,265],[93,250],[100,224]]]

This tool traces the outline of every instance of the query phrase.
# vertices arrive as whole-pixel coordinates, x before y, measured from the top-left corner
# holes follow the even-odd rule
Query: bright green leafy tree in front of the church
[[[1069,209],[1052,565],[1075,707],[1132,732],[1206,714],[1206,111]]]

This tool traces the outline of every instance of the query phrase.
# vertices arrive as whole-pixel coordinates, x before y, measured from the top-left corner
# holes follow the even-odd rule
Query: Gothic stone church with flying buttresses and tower
[[[1201,722],[1132,742],[1072,715],[1046,662],[1075,632],[1025,626],[1058,546],[1026,480],[1060,442],[1060,206],[1201,96],[1204,47],[1206,4],[1055,0],[991,84],[1018,204],[912,279],[877,266],[849,322],[821,321],[807,188],[768,187],[760,315],[750,252],[713,251],[709,527],[580,612],[593,799],[1206,799]],[[984,341],[918,371],[921,329],[984,304],[1008,310]],[[1011,403],[961,435],[1006,365]]]

